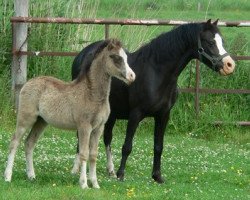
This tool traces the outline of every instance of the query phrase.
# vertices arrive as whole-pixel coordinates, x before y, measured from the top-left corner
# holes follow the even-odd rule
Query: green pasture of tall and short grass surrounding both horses
[[[146,18],[204,20],[250,20],[247,0],[197,1],[79,1],[67,3],[30,0],[30,16]],[[0,0],[2,19],[0,47],[0,173],[4,172],[8,145],[15,128],[16,112],[11,102],[11,25],[12,1]],[[112,26],[110,36],[120,38],[130,51],[150,41],[166,26]],[[226,48],[234,55],[250,55],[250,28],[221,28]],[[31,25],[30,50],[80,51],[90,42],[102,39],[104,28],[93,25]],[[70,80],[73,58],[29,57],[28,78],[53,75]],[[182,72],[178,85],[194,85],[194,62]],[[238,61],[232,76],[222,77],[201,68],[201,86],[206,88],[250,87],[249,61]],[[24,146],[21,144],[13,170],[13,180],[5,183],[0,176],[0,199],[249,199],[250,135],[249,127],[225,122],[250,120],[249,95],[201,95],[201,112],[196,119],[192,94],[181,94],[166,131],[162,158],[164,184],[150,178],[153,159],[153,121],[146,119],[136,132],[134,148],[126,166],[125,180],[117,181],[106,173],[106,157],[100,141],[97,177],[101,189],[81,190],[78,177],[70,170],[75,156],[74,132],[46,129],[34,151],[37,178],[29,181],[25,174]],[[121,158],[125,121],[115,126],[112,150],[115,169]],[[101,138],[102,139],[102,138]]]

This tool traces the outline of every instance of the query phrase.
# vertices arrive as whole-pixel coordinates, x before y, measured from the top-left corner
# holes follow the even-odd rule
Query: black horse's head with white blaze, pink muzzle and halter
[[[222,75],[233,73],[235,62],[223,47],[223,40],[217,27],[218,20],[202,23],[198,38],[199,60]]]

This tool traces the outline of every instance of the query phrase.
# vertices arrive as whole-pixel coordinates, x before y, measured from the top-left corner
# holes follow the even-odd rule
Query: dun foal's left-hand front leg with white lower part
[[[87,160],[89,158],[89,140],[91,134],[91,125],[85,124],[78,127],[79,136],[79,162],[81,165],[81,174],[79,183],[82,189],[88,188],[87,184]]]

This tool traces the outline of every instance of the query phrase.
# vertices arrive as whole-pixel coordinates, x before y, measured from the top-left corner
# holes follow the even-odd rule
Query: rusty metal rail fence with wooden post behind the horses
[[[191,22],[201,21],[176,21],[176,20],[139,20],[139,19],[80,19],[80,18],[32,18],[32,17],[12,17],[13,33],[13,66],[12,66],[12,89],[14,90],[15,102],[18,102],[20,88],[26,82],[26,59],[27,56],[76,56],[78,52],[35,52],[27,51],[27,27],[20,27],[19,24],[27,23],[62,23],[62,24],[99,24],[105,26],[105,38],[109,38],[110,25],[181,25]],[[227,27],[250,27],[250,21],[230,22],[219,21],[219,26]],[[22,31],[22,28],[24,31]],[[24,36],[26,32],[26,37]],[[21,37],[21,39],[20,39]],[[18,39],[19,38],[19,39]],[[22,41],[22,42],[20,42]],[[250,56],[232,56],[235,60],[250,60]],[[21,81],[20,81],[21,80]],[[199,95],[201,93],[210,94],[250,94],[248,89],[205,89],[200,88],[200,64],[196,60],[196,83],[194,88],[181,88],[181,92],[195,94],[195,110],[199,113]],[[222,122],[215,122],[221,124]],[[236,122],[238,125],[250,126],[250,122]]]

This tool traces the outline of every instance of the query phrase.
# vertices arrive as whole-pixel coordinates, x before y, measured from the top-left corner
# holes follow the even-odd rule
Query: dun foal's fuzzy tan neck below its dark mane
[[[106,61],[104,56],[98,56],[85,77],[85,85],[90,91],[90,99],[93,101],[108,100],[111,77],[105,71]]]

